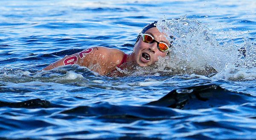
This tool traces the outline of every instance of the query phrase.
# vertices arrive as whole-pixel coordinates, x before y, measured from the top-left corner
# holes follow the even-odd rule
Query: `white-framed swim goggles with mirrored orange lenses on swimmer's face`
[[[143,34],[143,33],[140,33],[139,35],[142,36],[142,40],[143,40],[143,42],[145,42],[145,43],[151,44],[151,43],[157,42],[157,48],[158,48],[158,50],[160,50],[161,52],[166,52],[166,51],[168,51],[168,50],[172,47],[172,44],[167,45],[165,42],[158,42],[158,41],[156,41],[156,40],[154,39],[154,37],[151,36],[150,34]]]

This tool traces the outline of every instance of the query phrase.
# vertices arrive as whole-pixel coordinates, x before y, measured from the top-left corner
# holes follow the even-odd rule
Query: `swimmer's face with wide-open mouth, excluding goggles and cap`
[[[148,29],[144,34],[150,34],[154,37],[158,42],[166,42],[167,45],[170,45],[169,41],[166,39],[165,34],[158,31],[156,27]],[[137,62],[141,67],[146,67],[154,62],[157,62],[158,56],[164,57],[167,52],[161,52],[157,48],[157,42],[153,42],[151,44],[143,42],[142,37],[134,46],[134,61]]]

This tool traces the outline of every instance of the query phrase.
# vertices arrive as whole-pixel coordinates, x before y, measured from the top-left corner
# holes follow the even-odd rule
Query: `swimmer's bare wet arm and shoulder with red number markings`
[[[121,62],[119,59],[122,60],[122,56],[123,53],[120,53],[118,49],[94,47],[81,51],[80,53],[65,56],[63,59],[45,67],[43,70],[51,70],[67,64],[79,64],[100,75],[105,75],[115,69],[115,66]]]

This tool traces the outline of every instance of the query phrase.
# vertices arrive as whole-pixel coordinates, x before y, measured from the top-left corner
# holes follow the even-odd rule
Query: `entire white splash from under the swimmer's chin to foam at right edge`
[[[218,72],[213,78],[233,81],[256,78],[250,75],[255,75],[252,68],[255,67],[256,61],[256,48],[250,40],[244,39],[243,45],[232,42],[220,45],[206,25],[186,17],[178,20],[160,20],[157,22],[157,28],[166,34],[169,42],[173,42],[173,48],[168,56],[159,57],[154,65],[137,67],[135,74],[160,72],[168,75],[212,76]],[[243,54],[241,49],[246,52]]]

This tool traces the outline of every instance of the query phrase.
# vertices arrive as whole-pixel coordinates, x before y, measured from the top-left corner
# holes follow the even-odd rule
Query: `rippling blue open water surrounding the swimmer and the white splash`
[[[253,67],[236,70],[227,64],[215,77],[164,71],[108,77],[77,65],[41,71],[90,47],[131,53],[145,25],[184,16],[205,24],[220,46],[250,46],[253,52],[255,0],[2,0],[0,11],[0,138],[256,137]],[[256,64],[255,55],[250,53],[247,63]],[[198,109],[143,105],[172,90],[205,84],[243,96]],[[27,102],[17,104],[22,101]]]

